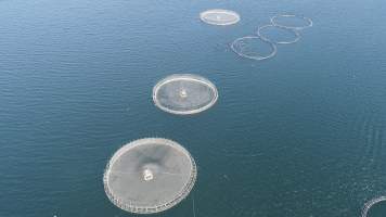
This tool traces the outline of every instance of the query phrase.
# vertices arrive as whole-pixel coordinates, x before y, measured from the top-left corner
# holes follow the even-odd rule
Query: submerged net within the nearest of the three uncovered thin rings
[[[263,49],[257,44],[265,46],[268,48]],[[268,40],[261,40],[261,38],[258,36],[245,36],[237,38],[232,42],[231,49],[240,56],[257,61],[270,59],[274,56],[278,51],[276,46],[274,43]]]

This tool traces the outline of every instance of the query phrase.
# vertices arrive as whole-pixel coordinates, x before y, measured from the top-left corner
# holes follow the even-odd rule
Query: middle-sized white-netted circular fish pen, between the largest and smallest
[[[171,75],[158,81],[153,88],[155,105],[171,114],[201,113],[211,107],[217,99],[216,86],[197,75]]]

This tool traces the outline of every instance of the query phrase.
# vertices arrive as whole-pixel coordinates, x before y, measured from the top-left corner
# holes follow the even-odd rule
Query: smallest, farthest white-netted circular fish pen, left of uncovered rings
[[[200,18],[210,25],[227,26],[239,23],[240,15],[230,10],[213,9],[200,13]]]

